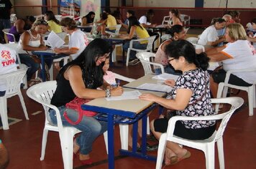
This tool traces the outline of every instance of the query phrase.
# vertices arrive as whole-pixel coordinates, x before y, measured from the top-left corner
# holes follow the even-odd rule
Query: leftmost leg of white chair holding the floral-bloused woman
[[[166,133],[163,133],[160,137],[158,150],[157,150],[157,165],[155,166],[156,169],[162,168],[163,157],[165,155],[165,147],[166,147]]]

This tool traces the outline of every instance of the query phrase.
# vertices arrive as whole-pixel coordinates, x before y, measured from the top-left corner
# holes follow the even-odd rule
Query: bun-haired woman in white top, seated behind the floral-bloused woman
[[[218,37],[217,30],[223,29],[226,24],[225,19],[214,18],[212,19],[211,26],[206,28],[198,39],[198,44],[205,47],[216,47],[219,43],[224,42],[224,37]]]

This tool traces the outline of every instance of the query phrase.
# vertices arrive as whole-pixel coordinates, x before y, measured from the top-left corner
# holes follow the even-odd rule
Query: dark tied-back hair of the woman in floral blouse
[[[193,63],[196,67],[206,70],[209,67],[209,57],[206,53],[196,54],[196,49],[193,44],[186,40],[177,40],[171,42],[165,47],[165,54],[168,57],[178,59],[185,57],[188,63]]]

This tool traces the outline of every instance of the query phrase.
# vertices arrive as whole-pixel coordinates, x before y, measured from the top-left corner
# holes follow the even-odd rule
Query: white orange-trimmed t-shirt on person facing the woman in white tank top
[[[78,49],[78,52],[76,52],[76,54],[70,54],[72,59],[76,59],[79,56],[79,54],[81,54],[83,50],[86,49],[88,44],[89,41],[84,32],[82,32],[81,30],[76,30],[75,32],[73,32],[73,34],[70,35],[68,47],[70,49]]]

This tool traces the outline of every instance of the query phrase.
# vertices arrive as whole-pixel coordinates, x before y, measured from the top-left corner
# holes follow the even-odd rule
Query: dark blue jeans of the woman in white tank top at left
[[[19,54],[19,59],[22,64],[26,64],[27,67],[29,67],[29,69],[27,69],[27,81],[29,81],[32,75],[39,69],[40,64],[36,63],[29,54]]]

